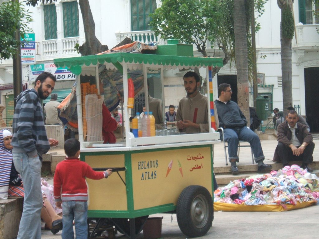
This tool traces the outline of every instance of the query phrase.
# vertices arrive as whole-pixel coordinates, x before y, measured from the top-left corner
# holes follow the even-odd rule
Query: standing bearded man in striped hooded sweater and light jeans
[[[13,115],[12,156],[16,170],[20,173],[24,190],[23,213],[18,239],[41,238],[41,163],[42,155],[58,141],[48,139],[44,127],[40,99],[46,99],[54,89],[56,77],[49,72],[41,73],[34,88],[23,91],[16,101]]]

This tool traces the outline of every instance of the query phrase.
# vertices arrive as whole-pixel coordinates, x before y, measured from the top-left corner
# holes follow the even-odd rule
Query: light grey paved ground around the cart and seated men
[[[316,147],[314,160],[319,161],[319,140],[314,140]],[[271,162],[277,141],[262,141],[265,163]],[[59,153],[62,153],[60,150]],[[239,165],[251,164],[249,148],[242,148]],[[225,166],[222,144],[215,145],[214,167]],[[186,238],[178,227],[176,214],[155,214],[151,217],[163,217],[162,238]],[[213,226],[202,238],[315,238],[318,234],[317,220],[319,206],[310,206],[288,212],[214,212]],[[118,238],[125,238],[117,235]],[[42,238],[61,238],[61,231],[53,235],[42,230]],[[138,238],[143,238],[140,234]]]

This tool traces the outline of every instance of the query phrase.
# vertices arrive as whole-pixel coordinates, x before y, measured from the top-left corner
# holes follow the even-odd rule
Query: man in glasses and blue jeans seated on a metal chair
[[[215,100],[215,109],[218,112],[219,127],[224,128],[224,137],[228,143],[228,156],[232,174],[239,173],[236,163],[239,140],[248,141],[258,164],[258,172],[270,171],[272,166],[263,163],[263,149],[257,134],[247,127],[247,120],[239,106],[231,101],[232,89],[230,84],[223,83],[218,87],[218,99]]]

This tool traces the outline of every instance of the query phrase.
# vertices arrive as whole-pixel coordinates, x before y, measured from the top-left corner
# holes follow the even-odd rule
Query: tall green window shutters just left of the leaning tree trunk
[[[63,3],[63,31],[64,37],[79,36],[78,2]]]

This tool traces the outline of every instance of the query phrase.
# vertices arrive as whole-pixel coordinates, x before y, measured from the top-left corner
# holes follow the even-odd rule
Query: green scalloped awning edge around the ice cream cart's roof
[[[222,58],[213,57],[185,57],[153,54],[135,54],[135,53],[110,53],[102,55],[89,55],[72,58],[54,59],[57,67],[67,67],[75,74],[81,74],[82,67],[95,66],[97,64],[116,64],[133,63],[133,64],[154,64],[163,66],[185,66],[185,67],[222,67]]]

